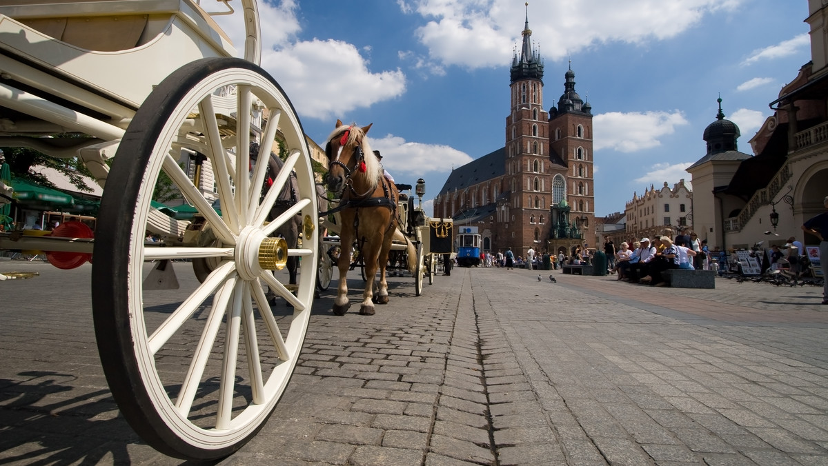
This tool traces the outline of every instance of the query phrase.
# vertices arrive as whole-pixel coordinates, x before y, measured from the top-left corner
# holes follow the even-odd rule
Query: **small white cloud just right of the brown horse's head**
[[[371,148],[382,152],[383,166],[389,173],[449,172],[455,166],[462,166],[473,159],[465,152],[439,144],[406,142],[405,139],[388,134],[380,139],[370,138]],[[399,178],[399,176],[395,177]]]

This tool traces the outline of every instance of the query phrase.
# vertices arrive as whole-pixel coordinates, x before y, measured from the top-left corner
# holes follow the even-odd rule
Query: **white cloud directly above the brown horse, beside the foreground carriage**
[[[282,0],[278,5],[259,2],[258,7],[262,68],[282,85],[301,118],[330,119],[406,91],[402,70],[369,70],[368,59],[353,44],[332,39],[295,41],[301,26],[294,0]],[[241,16],[217,20],[242,54],[245,33]],[[369,53],[370,48],[363,51]]]

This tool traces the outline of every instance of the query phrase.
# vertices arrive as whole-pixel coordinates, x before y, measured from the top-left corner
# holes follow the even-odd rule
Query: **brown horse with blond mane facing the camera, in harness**
[[[373,303],[388,304],[388,282],[385,268],[388,252],[397,233],[397,186],[383,175],[383,166],[368,146],[367,127],[345,126],[336,120],[336,128],[330,133],[325,153],[328,156],[328,189],[339,194],[342,231],[339,241],[343,253],[339,255],[339,288],[334,300],[334,314],[344,315],[350,307],[348,284],[345,276],[350,265],[349,246],[357,241],[365,259],[365,276],[368,281],[363,292],[359,314],[373,315]],[[405,238],[397,233],[397,238]],[[405,238],[408,249],[408,269],[416,270],[416,248]],[[373,286],[380,270],[377,296]]]

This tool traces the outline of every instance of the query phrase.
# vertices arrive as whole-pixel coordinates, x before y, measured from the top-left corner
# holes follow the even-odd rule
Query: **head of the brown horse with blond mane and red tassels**
[[[331,192],[343,195],[346,187],[360,193],[363,190],[373,192],[376,188],[382,166],[365,138],[371,124],[366,127],[355,124],[345,126],[336,120],[336,128],[325,144],[325,154],[328,156],[327,183]]]

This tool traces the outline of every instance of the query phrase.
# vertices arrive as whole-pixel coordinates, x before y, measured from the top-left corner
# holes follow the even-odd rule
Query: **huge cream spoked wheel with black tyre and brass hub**
[[[284,139],[274,142],[277,128]],[[251,137],[260,142],[258,156],[250,154]],[[266,162],[271,151],[279,152],[277,145],[287,158],[268,184]],[[206,157],[201,171],[190,165],[195,155]],[[299,200],[274,217],[271,208],[291,171]],[[204,226],[184,232],[171,218],[159,222],[150,204],[159,190],[180,193]],[[211,205],[216,196],[220,215]],[[304,219],[304,247],[271,236],[297,216]],[[316,281],[316,222],[301,124],[282,89],[257,65],[195,61],[142,104],[103,193],[93,309],[109,387],[147,443],[179,458],[217,459],[262,427],[305,338]],[[162,232],[161,242],[145,246],[147,231]],[[296,286],[283,285],[281,269],[291,256],[302,259]],[[203,283],[190,273],[178,277],[176,290],[145,282],[151,262],[172,267],[167,260],[199,258],[209,264],[202,267],[208,273]],[[186,266],[180,271],[189,271]],[[265,286],[291,307],[272,309]]]

